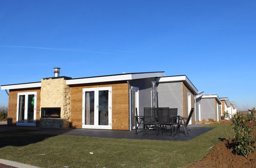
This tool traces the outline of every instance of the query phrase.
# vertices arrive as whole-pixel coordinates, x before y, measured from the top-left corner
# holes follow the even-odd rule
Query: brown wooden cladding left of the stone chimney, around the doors
[[[9,93],[9,104],[8,104],[8,125],[16,125],[17,116],[17,95],[22,92],[37,92],[36,96],[36,126],[39,125],[40,120],[40,88],[30,89],[12,89]]]

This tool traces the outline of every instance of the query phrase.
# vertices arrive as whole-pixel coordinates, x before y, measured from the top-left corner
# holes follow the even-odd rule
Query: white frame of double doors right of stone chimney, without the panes
[[[99,91],[109,91],[109,125],[99,125],[98,122],[98,102],[99,102]],[[94,91],[94,125],[86,125],[85,114],[86,114],[86,92]],[[90,129],[112,129],[112,87],[99,87],[99,88],[84,88],[82,89],[82,128]]]

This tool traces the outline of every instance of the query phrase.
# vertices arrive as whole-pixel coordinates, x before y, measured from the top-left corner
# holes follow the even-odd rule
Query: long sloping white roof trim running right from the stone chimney
[[[159,77],[159,76],[164,76],[164,72],[120,74],[120,75],[110,75],[110,76],[98,76],[98,77],[96,76],[96,77],[88,77],[88,78],[69,79],[69,80],[66,80],[66,84],[76,85],[76,84],[82,84],[82,83],[132,80],[132,79],[142,79],[142,78],[148,78],[148,77]]]

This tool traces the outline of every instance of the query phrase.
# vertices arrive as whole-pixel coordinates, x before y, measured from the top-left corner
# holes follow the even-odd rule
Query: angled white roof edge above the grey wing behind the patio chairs
[[[164,83],[164,82],[178,82],[183,81],[186,86],[195,94],[198,95],[197,88],[193,85],[193,83],[187,78],[186,75],[181,76],[164,76],[164,77],[158,77],[157,82],[158,83]]]

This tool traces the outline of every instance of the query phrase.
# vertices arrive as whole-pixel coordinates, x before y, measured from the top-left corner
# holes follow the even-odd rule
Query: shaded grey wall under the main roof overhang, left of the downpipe
[[[156,78],[145,78],[131,80],[130,85],[139,88],[139,111],[138,115],[143,116],[144,107],[151,107],[151,81],[156,81]]]

